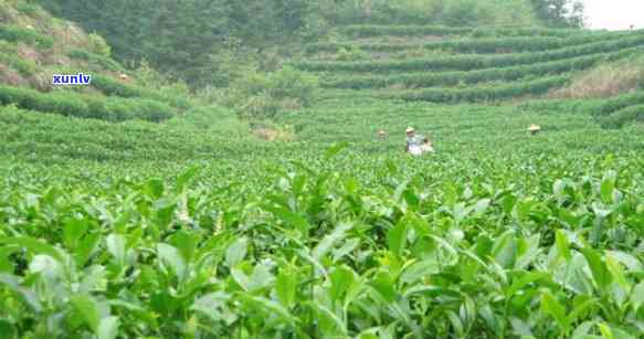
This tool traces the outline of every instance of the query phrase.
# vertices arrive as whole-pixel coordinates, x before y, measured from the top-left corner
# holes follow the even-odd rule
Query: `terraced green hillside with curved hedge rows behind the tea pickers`
[[[583,71],[644,52],[644,31],[349,25],[294,63],[329,96],[434,103],[543,95]]]

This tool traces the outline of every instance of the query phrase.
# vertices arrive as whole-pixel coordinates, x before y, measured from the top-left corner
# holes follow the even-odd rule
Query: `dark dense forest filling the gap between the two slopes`
[[[288,41],[314,10],[307,0],[42,0],[59,17],[102,34],[126,65],[147,60],[199,86],[220,78],[217,55]],[[240,44],[243,42],[243,45]],[[250,53],[250,52],[249,52]],[[228,85],[226,80],[221,81]]]

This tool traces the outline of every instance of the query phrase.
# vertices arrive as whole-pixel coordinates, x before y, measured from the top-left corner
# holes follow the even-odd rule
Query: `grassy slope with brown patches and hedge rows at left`
[[[108,121],[161,121],[190,108],[186,93],[142,82],[96,34],[24,1],[0,3],[0,104]],[[89,86],[54,86],[54,74],[91,76]],[[155,86],[158,85],[158,86]]]

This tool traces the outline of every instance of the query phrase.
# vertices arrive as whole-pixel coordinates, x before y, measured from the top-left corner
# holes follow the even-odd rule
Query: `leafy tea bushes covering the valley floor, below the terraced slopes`
[[[17,137],[33,128],[0,135],[18,160],[0,181],[4,333],[636,338],[644,144],[557,105],[524,116],[329,103],[283,119],[324,110],[335,123],[273,146],[218,145],[215,116],[214,129],[77,120],[73,135],[88,139],[67,144],[66,118],[4,110],[12,128],[42,126],[38,146]],[[440,155],[409,159],[398,138],[372,141],[372,128],[405,126],[401,114],[431,126]],[[532,119],[550,131],[526,136]],[[349,149],[323,146],[345,133]],[[74,150],[93,144],[112,152]]]

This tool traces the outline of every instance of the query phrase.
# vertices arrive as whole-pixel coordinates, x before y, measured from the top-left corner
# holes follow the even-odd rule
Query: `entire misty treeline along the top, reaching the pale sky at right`
[[[234,76],[230,68],[245,62],[240,55],[279,60],[299,50],[303,41],[346,23],[540,23],[536,7],[524,0],[36,1],[103,35],[122,63],[136,66],[147,60],[193,86],[228,86]],[[277,68],[273,63],[262,66]]]

